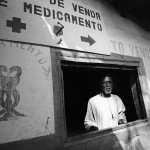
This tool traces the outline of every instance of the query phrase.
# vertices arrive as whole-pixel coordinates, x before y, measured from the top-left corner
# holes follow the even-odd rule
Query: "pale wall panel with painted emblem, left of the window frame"
[[[0,40],[0,143],[55,133],[50,49]]]

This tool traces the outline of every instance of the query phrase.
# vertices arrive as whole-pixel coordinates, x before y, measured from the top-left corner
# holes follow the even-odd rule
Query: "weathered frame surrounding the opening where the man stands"
[[[72,52],[71,52],[72,51]],[[68,51],[62,48],[51,48],[51,61],[52,61],[52,78],[53,78],[53,91],[54,91],[54,112],[55,112],[55,131],[56,135],[61,136],[65,145],[75,144],[78,142],[84,142],[94,137],[101,137],[107,134],[111,134],[116,130],[120,130],[126,127],[141,124],[147,121],[147,115],[140,87],[140,81],[137,81],[137,87],[140,92],[141,108],[143,113],[143,119],[129,122],[126,125],[114,127],[113,129],[104,129],[101,131],[89,132],[83,135],[75,137],[67,137],[66,117],[65,117],[65,100],[64,100],[64,86],[63,86],[63,73],[61,70],[61,63],[63,61],[72,62],[84,62],[99,65],[117,65],[119,67],[136,67],[138,77],[146,74],[143,64],[143,60],[137,57],[124,56],[120,54],[111,53],[111,55],[101,55],[89,52],[79,52],[71,50]],[[93,61],[94,60],[94,61]],[[93,61],[93,62],[92,62]],[[118,68],[119,68],[118,67]]]

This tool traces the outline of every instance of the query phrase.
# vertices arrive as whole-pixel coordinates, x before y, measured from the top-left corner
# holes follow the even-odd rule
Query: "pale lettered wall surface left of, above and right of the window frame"
[[[6,68],[0,74],[0,143],[55,133],[47,46],[142,58],[146,75],[140,81],[150,117],[150,34],[105,1],[1,0],[0,18],[0,65]],[[19,76],[9,72],[13,66]],[[12,115],[5,115],[2,101],[13,107]]]

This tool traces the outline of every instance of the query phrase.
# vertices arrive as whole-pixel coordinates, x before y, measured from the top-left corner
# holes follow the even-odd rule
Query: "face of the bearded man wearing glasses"
[[[102,81],[102,91],[105,95],[110,95],[112,92],[112,79],[105,77]]]

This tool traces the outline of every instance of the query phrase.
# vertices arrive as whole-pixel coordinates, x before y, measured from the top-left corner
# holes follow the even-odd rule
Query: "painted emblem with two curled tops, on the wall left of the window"
[[[15,75],[12,77],[12,74],[15,71]],[[4,73],[8,75],[4,75]],[[0,106],[3,109],[0,111],[0,121],[16,119],[17,116],[25,116],[24,114],[19,113],[15,110],[15,107],[18,106],[20,101],[20,95],[16,87],[20,82],[20,76],[22,70],[19,66],[13,66],[8,69],[0,65]]]

